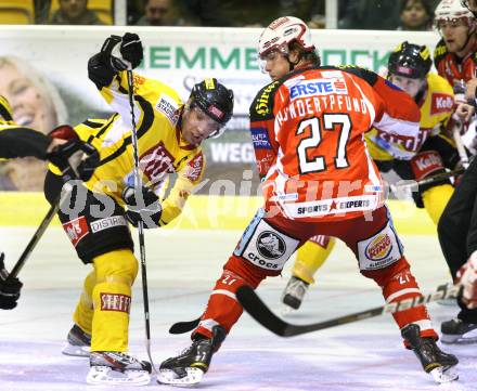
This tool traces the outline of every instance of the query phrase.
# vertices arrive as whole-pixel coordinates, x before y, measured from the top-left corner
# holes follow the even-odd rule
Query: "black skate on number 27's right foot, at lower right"
[[[420,326],[410,324],[401,329],[401,335],[408,341],[409,348],[414,351],[423,369],[438,383],[459,379],[457,374],[450,370],[459,363],[457,357],[442,352],[433,338],[421,337],[420,331]]]

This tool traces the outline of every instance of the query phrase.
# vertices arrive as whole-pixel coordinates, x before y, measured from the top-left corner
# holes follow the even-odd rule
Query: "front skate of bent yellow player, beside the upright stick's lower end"
[[[91,352],[89,385],[146,386],[151,381],[151,364],[121,352]]]

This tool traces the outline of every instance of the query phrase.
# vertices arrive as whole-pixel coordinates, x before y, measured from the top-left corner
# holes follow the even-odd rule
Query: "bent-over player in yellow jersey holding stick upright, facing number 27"
[[[93,265],[64,350],[65,354],[89,355],[89,383],[149,383],[150,363],[128,354],[131,286],[138,272],[128,222],[137,226],[142,220],[144,227],[152,229],[180,214],[204,174],[202,141],[219,135],[233,112],[232,91],[216,79],[195,84],[183,103],[172,88],[134,74],[139,168],[144,184],[142,199],[136,200],[125,69],[136,68],[142,57],[139,37],[126,34],[107,38],[101,52],[89,60],[89,78],[116,114],[76,127],[81,140],[99,148],[101,160],[91,180],[75,188],[75,200],[82,207],[75,210],[75,205],[59,213],[78,257]],[[177,179],[164,199],[171,173]],[[52,199],[61,186],[52,169],[47,177],[47,197]]]

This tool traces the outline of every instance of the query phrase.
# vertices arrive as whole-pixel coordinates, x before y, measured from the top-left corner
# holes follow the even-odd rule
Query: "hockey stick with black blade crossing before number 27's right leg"
[[[366,311],[356,312],[353,314],[336,317],[334,320],[312,323],[309,325],[295,325],[287,323],[276,316],[267,304],[257,296],[255,290],[243,285],[236,291],[236,298],[243,308],[263,327],[276,334],[280,337],[299,336],[306,333],[323,330],[325,328],[345,325],[347,323],[368,320],[384,313],[395,313],[409,310],[436,300],[456,298],[461,286],[452,284],[440,285],[434,292],[426,296],[420,296],[402,301],[392,302],[383,307],[376,307]]]

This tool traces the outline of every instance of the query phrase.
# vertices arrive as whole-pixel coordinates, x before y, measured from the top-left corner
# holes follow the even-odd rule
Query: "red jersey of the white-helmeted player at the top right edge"
[[[460,58],[448,52],[441,39],[434,51],[434,65],[439,76],[447,79],[452,87],[465,83],[477,77],[477,45],[464,58]]]

